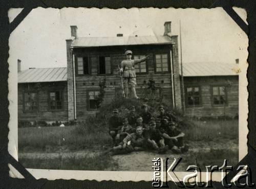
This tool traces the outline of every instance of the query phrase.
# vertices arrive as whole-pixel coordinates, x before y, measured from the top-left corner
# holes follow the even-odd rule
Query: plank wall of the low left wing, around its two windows
[[[63,94],[63,109],[50,110],[49,91],[61,90]],[[24,92],[37,92],[38,111],[24,111]],[[68,91],[67,82],[49,83],[19,83],[18,84],[18,121],[67,121]]]

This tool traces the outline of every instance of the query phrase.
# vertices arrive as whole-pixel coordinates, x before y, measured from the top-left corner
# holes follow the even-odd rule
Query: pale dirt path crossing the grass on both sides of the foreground
[[[132,152],[130,154],[121,154],[121,155],[114,155],[112,156],[113,159],[118,163],[117,170],[114,171],[152,171],[152,160],[154,158],[161,157],[165,163],[165,159],[168,157],[168,165],[174,161],[174,158],[177,160],[182,157],[181,162],[176,168],[176,171],[186,171],[186,168],[188,164],[194,164],[197,165],[196,159],[197,156],[200,156],[200,154],[210,154],[212,150],[223,150],[226,149],[236,152],[238,151],[238,145],[233,143],[233,141],[227,141],[226,143],[223,143],[225,145],[220,147],[220,144],[218,143],[205,143],[205,142],[197,142],[193,143],[190,142],[190,149],[185,154],[174,154],[172,151],[168,150],[166,154],[158,154],[155,151],[140,151],[140,152]],[[200,148],[199,148],[200,147]],[[26,159],[65,159],[69,157],[75,157],[75,159],[83,159],[85,157],[93,157],[97,155],[102,155],[102,151],[99,150],[80,150],[71,152],[68,150],[65,151],[59,151],[59,152],[22,152],[19,153],[19,158],[26,158]],[[214,154],[212,154],[214,155]],[[204,156],[204,155],[203,155]],[[202,157],[200,157],[202,159]],[[209,156],[208,156],[209,158]],[[218,159],[218,157],[217,157]],[[214,161],[215,162],[215,161]],[[113,170],[112,168],[109,168],[108,170]]]

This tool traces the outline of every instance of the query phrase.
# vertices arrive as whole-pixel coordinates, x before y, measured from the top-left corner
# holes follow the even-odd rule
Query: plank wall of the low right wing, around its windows
[[[185,114],[189,116],[237,116],[239,113],[239,83],[238,76],[214,77],[184,77],[184,88],[199,86],[201,88],[201,106],[185,107]],[[212,105],[211,87],[216,85],[226,87],[226,106]],[[185,96],[186,98],[186,96]],[[186,103],[185,103],[186,104]]]

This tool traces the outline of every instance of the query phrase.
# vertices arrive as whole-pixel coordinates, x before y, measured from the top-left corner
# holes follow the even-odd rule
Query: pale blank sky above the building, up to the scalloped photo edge
[[[9,21],[21,10],[10,9]],[[246,21],[245,10],[234,10]],[[147,36],[163,35],[165,21],[172,21],[173,35],[180,35],[181,22],[182,62],[246,62],[247,35],[222,8],[36,8],[11,33],[8,62],[22,60],[22,70],[66,67],[71,25],[77,26],[78,37]]]

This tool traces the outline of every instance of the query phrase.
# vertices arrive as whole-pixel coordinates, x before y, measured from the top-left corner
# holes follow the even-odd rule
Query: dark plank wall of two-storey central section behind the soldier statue
[[[170,70],[170,50],[172,45],[141,45],[141,46],[112,46],[109,48],[77,48],[73,52],[77,56],[89,56],[91,63],[90,75],[76,75],[76,109],[77,120],[82,120],[88,114],[93,114],[95,111],[88,110],[88,91],[99,89],[99,82],[106,78],[105,98],[104,103],[109,103],[115,98],[116,90],[120,88],[120,77],[118,73],[118,64],[125,60],[124,52],[126,50],[133,51],[134,55],[150,55],[147,60],[147,73],[137,75],[136,89],[138,94],[144,90],[151,78],[155,81],[155,86],[160,88],[163,101],[172,104],[172,78],[170,71],[166,73],[155,72],[155,54],[167,53],[168,64]],[[99,75],[98,74],[98,57],[103,55],[110,55],[112,61],[112,74]],[[76,61],[75,61],[76,62]],[[93,84],[92,84],[93,83]]]

